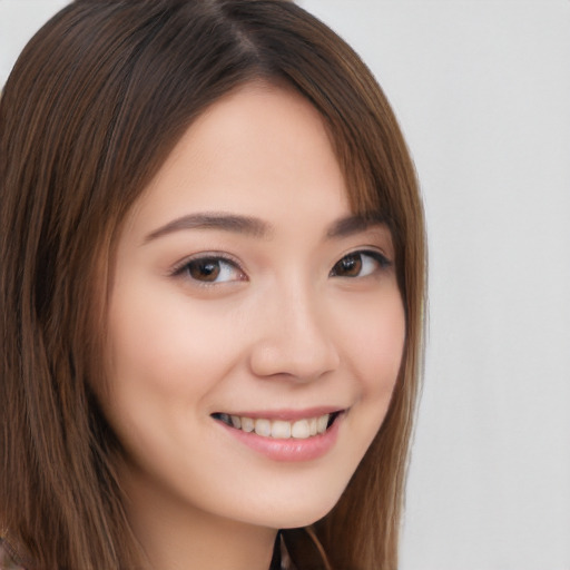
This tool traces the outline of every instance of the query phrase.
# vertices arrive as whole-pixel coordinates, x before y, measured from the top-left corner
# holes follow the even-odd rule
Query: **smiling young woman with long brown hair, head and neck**
[[[77,0],[0,102],[0,530],[28,570],[394,569],[422,208],[281,0]]]

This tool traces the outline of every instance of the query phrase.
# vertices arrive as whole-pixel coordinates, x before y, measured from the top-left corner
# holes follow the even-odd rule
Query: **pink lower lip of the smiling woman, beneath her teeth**
[[[255,432],[236,430],[225,423],[218,422],[229,434],[239,442],[274,461],[311,461],[325,455],[336,442],[338,425],[344,414],[340,414],[325,433],[306,439],[264,438]]]

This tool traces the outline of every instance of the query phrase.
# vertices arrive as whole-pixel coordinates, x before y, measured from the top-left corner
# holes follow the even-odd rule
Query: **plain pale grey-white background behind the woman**
[[[0,85],[65,0],[0,0]],[[402,570],[570,569],[570,1],[301,0],[415,159],[430,337]]]

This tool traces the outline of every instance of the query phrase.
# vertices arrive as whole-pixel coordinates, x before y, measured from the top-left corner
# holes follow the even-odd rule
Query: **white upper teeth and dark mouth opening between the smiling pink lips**
[[[212,417],[230,428],[246,433],[253,432],[262,438],[273,438],[277,440],[306,440],[325,433],[341,413],[342,412],[333,412],[330,414],[318,415],[316,417],[306,417],[292,422],[286,420],[269,420],[265,417],[253,419],[226,413],[215,413],[212,414]]]

